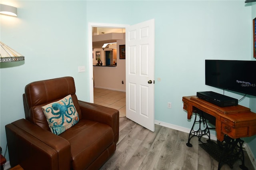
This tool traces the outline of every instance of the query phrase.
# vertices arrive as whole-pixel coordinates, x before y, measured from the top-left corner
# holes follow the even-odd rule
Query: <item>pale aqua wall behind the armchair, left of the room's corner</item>
[[[25,85],[72,76],[78,98],[88,101],[89,76],[86,1],[2,0],[1,4],[18,8],[18,18],[0,15],[1,42],[25,56],[25,61],[0,65],[0,145],[4,152],[4,126],[24,118]],[[79,65],[85,65],[86,72],[78,73]]]

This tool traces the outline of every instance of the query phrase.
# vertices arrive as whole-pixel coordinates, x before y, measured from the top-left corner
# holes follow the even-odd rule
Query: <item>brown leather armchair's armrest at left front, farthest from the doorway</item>
[[[5,126],[11,166],[26,170],[70,170],[70,143],[52,132],[20,119]]]

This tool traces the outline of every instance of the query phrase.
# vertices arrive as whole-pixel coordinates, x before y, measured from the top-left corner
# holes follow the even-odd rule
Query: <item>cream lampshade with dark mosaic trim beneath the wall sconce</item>
[[[0,42],[0,63],[22,61],[24,56]]]

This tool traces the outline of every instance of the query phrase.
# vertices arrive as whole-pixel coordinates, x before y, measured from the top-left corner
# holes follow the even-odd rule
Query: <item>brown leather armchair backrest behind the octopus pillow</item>
[[[72,96],[79,119],[82,118],[80,106],[76,96],[73,77],[61,77],[50,80],[35,81],[25,87],[24,109],[25,117],[30,122],[50,131],[48,122],[42,111],[42,106],[56,102],[67,95]]]

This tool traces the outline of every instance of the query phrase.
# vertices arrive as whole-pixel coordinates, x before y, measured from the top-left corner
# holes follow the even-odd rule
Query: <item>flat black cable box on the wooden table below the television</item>
[[[215,93],[213,91],[196,92],[196,96],[199,99],[208,101],[209,103],[212,103],[219,107],[229,107],[238,105],[238,99],[228,97],[219,93]]]

